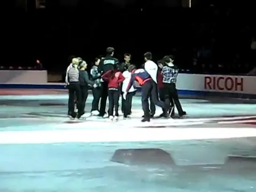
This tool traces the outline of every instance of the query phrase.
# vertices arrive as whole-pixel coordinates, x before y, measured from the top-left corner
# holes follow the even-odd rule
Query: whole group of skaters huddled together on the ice
[[[178,68],[173,64],[171,56],[164,56],[156,64],[152,61],[152,54],[147,52],[144,54],[145,63],[138,69],[130,64],[131,54],[124,54],[124,62],[119,63],[113,57],[114,51],[113,47],[108,47],[105,57],[96,58],[90,74],[86,71],[85,61],[81,58],[72,59],[66,72],[66,84],[69,89],[68,114],[71,118],[79,119],[85,114],[88,87],[91,86],[93,91],[91,115],[108,116],[111,121],[117,121],[121,95],[122,113],[124,119],[129,119],[132,114],[132,98],[137,92],[136,82],[141,88],[141,104],[144,112],[142,122],[149,122],[154,117],[155,105],[163,109],[159,118],[173,117],[174,105],[178,110],[179,118],[186,115],[178,100],[176,89]],[[108,98],[109,109],[106,112]]]

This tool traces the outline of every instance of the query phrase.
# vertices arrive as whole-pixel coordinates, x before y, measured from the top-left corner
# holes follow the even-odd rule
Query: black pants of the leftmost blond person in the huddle
[[[68,85],[69,89],[69,112],[72,117],[76,117],[76,113],[74,111],[75,109],[75,97],[77,98],[77,108],[78,108],[78,113],[80,113],[79,110],[81,110],[81,90],[80,90],[80,85],[78,82],[75,83],[70,83]]]

